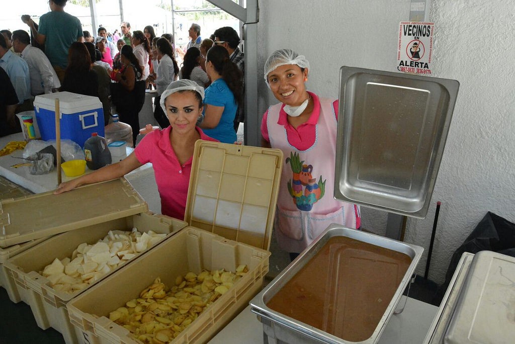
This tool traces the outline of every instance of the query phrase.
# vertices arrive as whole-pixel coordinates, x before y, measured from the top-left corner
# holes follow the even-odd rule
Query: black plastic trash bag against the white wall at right
[[[479,251],[493,251],[515,257],[515,223],[488,212],[463,244],[454,251],[445,274],[445,282],[439,287],[433,304],[440,304],[443,299],[461,255],[464,252],[475,254]]]

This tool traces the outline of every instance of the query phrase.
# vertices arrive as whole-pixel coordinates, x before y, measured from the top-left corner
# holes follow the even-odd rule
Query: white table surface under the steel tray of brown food
[[[379,340],[380,344],[422,343],[438,307],[408,298],[404,311],[394,314]],[[263,344],[263,325],[247,306],[209,344]]]

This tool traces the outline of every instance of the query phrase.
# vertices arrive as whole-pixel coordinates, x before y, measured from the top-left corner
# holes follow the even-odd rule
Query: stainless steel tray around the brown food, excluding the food
[[[393,314],[401,296],[410,281],[411,275],[420,260],[423,248],[410,245],[397,240],[389,239],[383,236],[357,231],[354,229],[342,227],[333,224],[329,226],[310,246],[308,246],[297,259],[284,269],[278,277],[270,282],[251,302],[251,311],[258,314],[258,318],[263,323],[265,334],[269,337],[282,340],[287,343],[350,343],[344,339],[338,338],[327,332],[318,330],[313,326],[307,325],[296,319],[290,318],[267,306],[270,299],[278,293],[278,291],[301,270],[307,262],[328,242],[333,236],[347,236],[349,238],[359,240],[361,242],[384,247],[394,251],[407,254],[411,258],[411,263],[404,274],[396,293],[389,302],[386,312],[377,324],[372,336],[362,343],[375,343],[379,340],[388,320]],[[355,282],[355,281],[354,281]],[[343,282],[345,283],[345,282]],[[273,332],[273,333],[270,333]],[[279,337],[279,338],[278,338]]]

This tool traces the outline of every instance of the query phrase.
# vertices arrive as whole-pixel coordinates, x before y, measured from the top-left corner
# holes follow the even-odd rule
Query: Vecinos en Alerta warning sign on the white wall
[[[404,73],[431,74],[434,23],[401,22],[397,70]]]

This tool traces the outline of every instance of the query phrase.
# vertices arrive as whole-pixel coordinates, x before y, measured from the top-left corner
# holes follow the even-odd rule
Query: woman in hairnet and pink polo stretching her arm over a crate
[[[184,219],[195,141],[218,141],[196,126],[202,115],[203,98],[204,89],[195,81],[171,82],[161,96],[161,107],[168,116],[169,127],[146,134],[124,160],[61,183],[54,194],[83,184],[119,178],[150,162],[161,197],[161,213]]]

